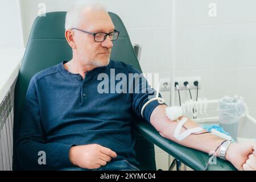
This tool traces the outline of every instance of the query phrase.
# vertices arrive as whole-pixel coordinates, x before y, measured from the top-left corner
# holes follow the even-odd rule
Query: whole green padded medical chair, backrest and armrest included
[[[20,117],[23,108],[24,97],[28,84],[36,73],[59,64],[63,60],[71,60],[72,50],[68,46],[64,36],[66,12],[47,13],[46,16],[36,18],[26,52],[24,53],[14,94],[14,151],[13,169],[22,170],[16,154],[16,139],[19,133]],[[111,59],[132,64],[139,71],[137,55],[131,45],[129,35],[122,20],[118,15],[109,13],[115,28],[120,31],[118,40],[114,43]],[[156,170],[154,144],[174,156],[177,160],[195,170],[204,170],[209,156],[203,152],[180,146],[165,139],[148,122],[138,119],[134,122],[136,134],[135,150],[141,170]],[[154,144],[153,144],[154,143]],[[217,159],[217,165],[211,165],[209,170],[233,170],[232,164]]]

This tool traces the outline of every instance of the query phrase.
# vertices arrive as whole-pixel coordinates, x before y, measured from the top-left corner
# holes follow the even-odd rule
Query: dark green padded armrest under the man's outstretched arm
[[[168,154],[174,156],[177,160],[188,167],[197,171],[204,171],[208,163],[209,155],[205,152],[194,150],[192,148],[181,146],[167,138],[162,137],[156,129],[146,121],[137,121],[135,129],[150,142],[162,148]],[[216,164],[208,167],[209,171],[234,171],[237,170],[232,163],[217,158]]]

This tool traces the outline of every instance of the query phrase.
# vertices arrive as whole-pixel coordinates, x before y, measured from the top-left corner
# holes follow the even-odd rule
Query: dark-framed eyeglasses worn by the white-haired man
[[[98,33],[92,33],[85,30],[80,30],[79,28],[71,28],[71,30],[79,30],[81,32],[84,32],[85,34],[93,35],[95,42],[104,42],[106,40],[106,37],[109,36],[111,41],[117,40],[119,36],[119,31],[114,30],[113,32],[110,32],[109,34],[105,32],[98,32]]]

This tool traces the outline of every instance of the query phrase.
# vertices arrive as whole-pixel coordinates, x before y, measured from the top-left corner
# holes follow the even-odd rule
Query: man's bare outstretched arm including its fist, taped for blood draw
[[[189,135],[189,137],[179,141],[174,137],[174,131],[177,127],[177,122],[171,121],[166,115],[166,105],[155,107],[150,116],[150,123],[159,131],[162,137],[170,139],[183,146],[194,148],[209,154],[210,151],[216,148],[224,141],[224,139],[216,137],[213,134],[206,133],[201,135]],[[183,116],[179,118],[181,120]],[[188,119],[184,126],[187,129],[199,127],[199,125]],[[181,133],[185,131],[181,129]],[[200,132],[202,133],[202,132]],[[217,156],[220,156],[219,150]],[[256,143],[232,143],[226,151],[226,160],[229,160],[238,170],[256,170]]]

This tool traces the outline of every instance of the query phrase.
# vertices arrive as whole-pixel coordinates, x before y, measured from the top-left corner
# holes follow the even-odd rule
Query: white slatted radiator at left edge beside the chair
[[[13,92],[0,104],[0,171],[10,171],[13,163]]]

